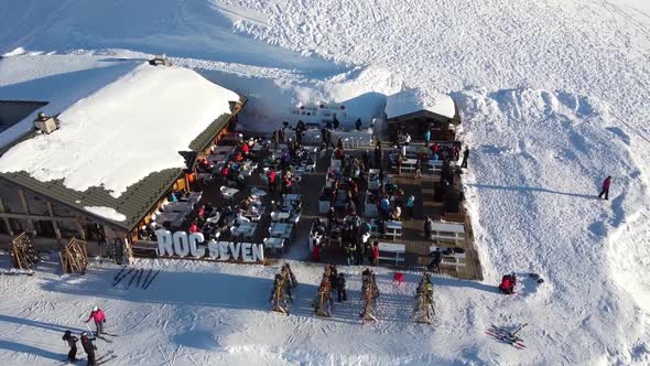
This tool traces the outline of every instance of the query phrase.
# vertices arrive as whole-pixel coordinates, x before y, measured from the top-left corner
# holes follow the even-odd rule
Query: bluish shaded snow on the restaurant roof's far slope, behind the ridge
[[[0,133],[0,148],[34,127],[39,111],[59,114],[133,71],[142,61],[94,55],[19,55],[0,60],[0,100],[47,101]]]

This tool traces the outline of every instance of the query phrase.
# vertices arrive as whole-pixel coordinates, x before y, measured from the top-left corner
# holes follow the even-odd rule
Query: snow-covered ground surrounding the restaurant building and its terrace
[[[650,364],[642,2],[151,2],[21,1],[0,9],[0,52],[167,53],[250,96],[245,117],[264,125],[299,100],[349,101],[402,85],[448,93],[473,149],[464,183],[486,280],[436,277],[429,326],[409,319],[419,278],[394,288],[379,269],[379,322],[360,325],[359,268],[344,269],[349,301],[334,319],[310,309],[321,266],[292,263],[301,284],[291,316],[269,312],[278,268],[141,260],[162,270],[148,290],[110,288],[117,269],[59,278],[41,268],[0,277],[1,299],[11,299],[0,302],[0,359],[63,359],[63,331],[84,330],[79,313],[99,303],[120,334],[99,341],[100,352],[119,349],[130,364]],[[597,201],[608,174],[610,201]],[[545,282],[521,278],[503,297],[495,283],[509,271]],[[526,351],[485,334],[522,322]]]

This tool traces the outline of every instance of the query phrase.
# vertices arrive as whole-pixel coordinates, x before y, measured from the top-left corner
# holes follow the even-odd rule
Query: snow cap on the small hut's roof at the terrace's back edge
[[[425,94],[420,89],[405,89],[388,97],[386,101],[387,118],[394,118],[421,110],[454,118],[456,108],[454,99],[443,94]]]

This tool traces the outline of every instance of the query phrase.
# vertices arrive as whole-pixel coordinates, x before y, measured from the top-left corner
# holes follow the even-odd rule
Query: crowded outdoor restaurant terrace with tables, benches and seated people
[[[391,144],[370,133],[359,143],[375,144],[372,152],[346,142],[342,131],[299,130],[239,134],[228,140],[235,144],[215,144],[196,165],[197,192],[187,201],[170,198],[154,222],[171,230],[201,232],[206,239],[263,244],[271,257],[284,256],[306,235],[306,243],[299,243],[306,244],[313,261],[424,266],[480,276],[473,272],[475,265],[463,269],[476,259],[468,247],[458,142],[400,134]],[[310,184],[303,184],[306,176]],[[304,215],[315,217],[308,218],[308,233],[300,234],[305,233],[299,230]]]

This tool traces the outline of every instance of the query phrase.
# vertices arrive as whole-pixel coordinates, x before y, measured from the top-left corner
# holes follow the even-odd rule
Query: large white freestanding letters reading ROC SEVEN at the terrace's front
[[[199,247],[205,241],[203,234],[170,230],[156,230],[158,255],[178,256],[181,258],[192,256],[194,258],[205,257],[206,248]],[[226,243],[209,240],[207,252],[216,260],[242,260],[245,262],[259,262],[264,260],[264,246],[252,243]]]

